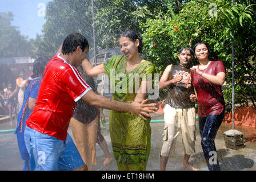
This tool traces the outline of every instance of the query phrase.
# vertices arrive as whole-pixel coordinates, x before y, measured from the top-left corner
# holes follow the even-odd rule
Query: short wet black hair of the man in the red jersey
[[[61,52],[64,55],[72,54],[78,46],[81,46],[82,52],[85,51],[85,48],[89,49],[89,43],[85,36],[79,33],[70,34],[63,41]]]

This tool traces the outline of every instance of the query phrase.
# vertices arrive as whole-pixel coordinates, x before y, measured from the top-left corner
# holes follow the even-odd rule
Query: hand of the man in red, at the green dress
[[[131,105],[133,109],[130,111],[130,113],[139,115],[139,117],[141,117],[145,121],[147,119],[143,117],[143,115],[151,118],[151,115],[149,113],[155,113],[155,110],[157,110],[157,107],[155,106],[157,104],[145,104],[147,101],[148,99],[142,101],[141,103],[136,101],[132,102]]]

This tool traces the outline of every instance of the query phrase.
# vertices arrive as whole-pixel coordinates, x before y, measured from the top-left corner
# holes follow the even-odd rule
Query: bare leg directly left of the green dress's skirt
[[[86,164],[89,171],[93,170],[93,166],[97,163],[96,160],[96,137],[97,137],[97,127],[98,127],[98,117],[96,117],[92,122],[86,123],[87,127],[87,137],[88,142],[86,145]]]

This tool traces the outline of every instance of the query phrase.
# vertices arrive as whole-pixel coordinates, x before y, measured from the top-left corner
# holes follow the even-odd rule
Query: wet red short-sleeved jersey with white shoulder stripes
[[[60,54],[55,55],[46,65],[37,102],[27,119],[27,126],[65,140],[75,102],[90,89],[75,67],[62,59]]]

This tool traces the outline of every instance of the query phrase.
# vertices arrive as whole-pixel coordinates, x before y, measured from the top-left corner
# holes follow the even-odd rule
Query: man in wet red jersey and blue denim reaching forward
[[[30,153],[31,170],[58,170],[59,159],[65,150],[65,140],[75,102],[82,99],[90,105],[105,109],[128,111],[151,117],[155,104],[113,101],[99,96],[86,84],[78,67],[89,50],[86,38],[70,34],[58,53],[46,65],[33,113],[27,119],[25,143]],[[144,118],[145,119],[145,118]]]

